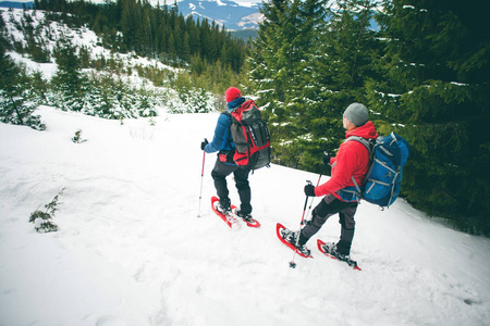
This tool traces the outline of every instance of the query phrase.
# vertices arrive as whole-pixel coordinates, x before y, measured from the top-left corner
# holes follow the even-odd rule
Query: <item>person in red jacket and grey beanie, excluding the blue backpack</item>
[[[345,138],[359,136],[366,139],[376,139],[378,134],[372,122],[368,121],[368,110],[365,105],[360,103],[348,105],[343,114],[343,127],[346,129]],[[285,229],[283,238],[294,243],[302,253],[309,255],[310,252],[305,247],[305,243],[318,233],[330,216],[339,214],[339,223],[342,225],[340,241],[338,243],[328,243],[324,249],[331,255],[345,260],[348,259],[351,253],[355,229],[354,215],[358,204],[355,191],[345,190],[355,189],[352,177],[355,178],[358,185],[363,184],[369,168],[369,152],[359,141],[344,141],[340,146],[336,156],[330,158],[326,155],[323,162],[332,165],[330,179],[318,187],[306,185],[304,190],[306,196],[324,197],[314,209],[311,221],[299,231],[297,246],[296,237],[298,231],[293,233]]]

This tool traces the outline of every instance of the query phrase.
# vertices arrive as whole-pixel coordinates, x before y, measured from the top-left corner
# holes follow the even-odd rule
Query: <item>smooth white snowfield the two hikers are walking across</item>
[[[230,229],[210,208],[213,154],[200,175],[218,113],[161,112],[156,126],[36,113],[46,131],[0,124],[0,325],[488,325],[487,238],[403,199],[382,212],[362,203],[352,250],[362,272],[315,247],[338,239],[336,216],[293,269],[275,224],[298,227],[305,180],[319,176],[256,171],[261,227]],[[71,141],[78,129],[86,142]],[[30,213],[63,187],[59,231],[36,233]]]

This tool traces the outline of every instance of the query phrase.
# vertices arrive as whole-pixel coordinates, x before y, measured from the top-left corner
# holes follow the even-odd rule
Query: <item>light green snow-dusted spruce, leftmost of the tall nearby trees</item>
[[[264,23],[253,42],[250,79],[260,95],[273,142],[277,163],[297,167],[301,159],[295,142],[303,137],[304,127],[301,92],[303,65],[307,59],[310,35],[303,24],[306,17],[301,1],[274,0],[264,3]]]

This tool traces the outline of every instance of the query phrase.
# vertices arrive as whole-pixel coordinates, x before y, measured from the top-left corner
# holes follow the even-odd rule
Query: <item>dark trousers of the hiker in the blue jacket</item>
[[[250,186],[248,184],[248,174],[250,170],[240,165],[230,165],[221,162],[219,159],[216,161],[212,168],[211,176],[215,180],[215,188],[220,199],[220,203],[223,205],[230,204],[230,191],[228,190],[226,176],[233,173],[235,179],[235,186],[238,190],[241,206],[240,210],[245,213],[252,213],[250,205]]]

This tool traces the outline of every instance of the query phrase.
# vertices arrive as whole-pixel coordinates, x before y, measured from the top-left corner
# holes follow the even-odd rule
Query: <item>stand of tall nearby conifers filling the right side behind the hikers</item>
[[[490,234],[490,24],[478,1],[270,0],[249,62],[275,161],[320,172],[365,103],[412,146],[402,196]]]

